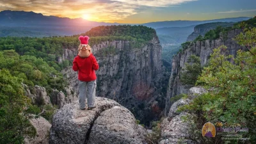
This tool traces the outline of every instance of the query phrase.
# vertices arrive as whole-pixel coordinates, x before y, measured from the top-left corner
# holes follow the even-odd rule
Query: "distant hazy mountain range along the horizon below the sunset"
[[[237,22],[250,19],[250,17],[237,17],[227,19],[215,19],[215,20],[174,20],[163,22],[148,22],[145,24],[131,24],[131,25],[143,25],[150,28],[171,28],[171,27],[189,27],[196,26],[197,24],[204,24],[208,22]],[[70,19],[67,17],[45,16],[42,13],[24,12],[24,11],[11,11],[4,10],[0,12],[0,29],[15,29],[24,31],[33,31],[47,33],[51,35],[77,35],[84,33],[96,26],[110,26],[119,25],[118,23],[109,22],[93,22],[90,20],[84,20],[82,18]],[[120,24],[124,25],[124,24]],[[190,27],[191,28],[191,27]],[[172,31],[172,28],[168,31]],[[179,28],[178,28],[179,29]],[[164,31],[164,29],[158,29],[157,31]],[[193,32],[193,31],[191,31]],[[165,33],[165,32],[164,32]],[[8,36],[8,35],[6,35]]]

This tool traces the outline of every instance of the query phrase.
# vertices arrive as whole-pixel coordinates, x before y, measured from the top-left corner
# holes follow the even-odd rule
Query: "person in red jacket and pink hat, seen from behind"
[[[96,58],[91,52],[90,45],[88,45],[89,36],[79,36],[80,45],[78,47],[78,54],[73,61],[72,69],[78,71],[79,79],[79,107],[86,109],[85,101],[87,95],[88,109],[95,108],[95,89],[96,89],[96,74],[95,70],[99,69]]]

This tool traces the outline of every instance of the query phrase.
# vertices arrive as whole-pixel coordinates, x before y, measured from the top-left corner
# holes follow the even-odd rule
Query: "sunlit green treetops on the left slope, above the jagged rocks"
[[[13,76],[19,77],[29,88],[37,84],[47,88],[48,92],[51,89],[64,91],[65,83],[63,83],[62,74],[50,67],[42,58],[19,56],[14,50],[0,51],[0,69],[2,68],[8,69]]]

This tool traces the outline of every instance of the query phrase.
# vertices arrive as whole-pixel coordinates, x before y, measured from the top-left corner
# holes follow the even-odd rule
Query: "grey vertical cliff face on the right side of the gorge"
[[[202,42],[193,42],[189,45],[188,49],[184,52],[179,52],[172,60],[172,72],[169,79],[169,84],[166,94],[166,106],[164,109],[164,115],[168,115],[170,106],[170,98],[180,93],[188,93],[189,88],[192,86],[184,85],[179,80],[180,70],[184,68],[185,63],[188,62],[188,58],[191,55],[196,55],[200,57],[201,65],[204,66],[209,60],[209,56],[214,48],[220,47],[221,45],[227,46],[227,54],[236,55],[236,51],[241,49],[232,38],[241,33],[241,29],[235,29],[228,32],[227,38],[220,36],[217,40],[205,40]]]

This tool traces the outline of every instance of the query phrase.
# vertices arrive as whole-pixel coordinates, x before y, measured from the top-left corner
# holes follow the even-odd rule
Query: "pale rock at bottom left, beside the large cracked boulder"
[[[45,118],[39,116],[38,118],[32,118],[29,120],[30,123],[36,129],[35,138],[25,138],[25,144],[48,144],[49,143],[49,132],[51,124],[45,120]]]

